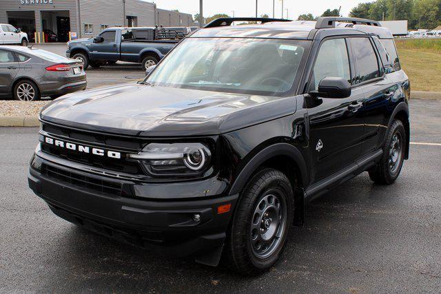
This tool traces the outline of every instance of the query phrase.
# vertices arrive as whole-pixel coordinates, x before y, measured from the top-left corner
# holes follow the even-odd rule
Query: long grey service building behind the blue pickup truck
[[[70,32],[85,38],[112,26],[194,25],[191,14],[141,0],[0,0],[0,23],[21,28],[31,41],[34,32],[45,32],[57,34],[59,42],[68,41]]]

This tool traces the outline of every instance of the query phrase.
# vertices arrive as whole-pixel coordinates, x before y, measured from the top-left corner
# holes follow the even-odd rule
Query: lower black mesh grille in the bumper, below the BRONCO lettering
[[[60,182],[67,182],[76,187],[82,187],[97,191],[103,194],[110,194],[113,196],[121,196],[122,185],[119,182],[111,182],[108,180],[99,180],[89,176],[82,176],[71,171],[52,167],[50,165],[43,165],[42,172],[45,176],[58,180]]]

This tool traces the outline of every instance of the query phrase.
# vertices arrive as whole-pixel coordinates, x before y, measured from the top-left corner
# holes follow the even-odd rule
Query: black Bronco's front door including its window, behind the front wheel
[[[309,91],[318,90],[318,84],[325,77],[345,78],[350,83],[353,68],[349,56],[345,39],[322,42],[309,81]],[[306,100],[311,183],[345,169],[360,157],[365,123],[360,109],[364,98],[363,87],[356,87],[347,98]]]

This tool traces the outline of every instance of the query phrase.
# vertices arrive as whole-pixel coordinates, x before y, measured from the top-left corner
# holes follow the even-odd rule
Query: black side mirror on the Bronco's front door
[[[345,78],[328,76],[318,84],[318,91],[311,91],[309,95],[323,98],[347,98],[351,96],[351,85]]]

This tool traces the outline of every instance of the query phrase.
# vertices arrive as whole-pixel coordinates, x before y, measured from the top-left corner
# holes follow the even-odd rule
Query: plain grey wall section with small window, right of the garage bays
[[[101,32],[101,24],[125,26],[122,0],[80,0],[81,37],[96,36]],[[92,34],[84,34],[84,24],[92,24]]]

